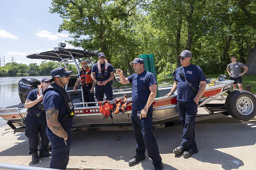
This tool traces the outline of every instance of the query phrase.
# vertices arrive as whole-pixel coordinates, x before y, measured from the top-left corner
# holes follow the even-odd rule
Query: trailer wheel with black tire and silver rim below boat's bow
[[[234,90],[229,95],[225,105],[232,117],[249,121],[256,116],[256,98],[251,92]]]

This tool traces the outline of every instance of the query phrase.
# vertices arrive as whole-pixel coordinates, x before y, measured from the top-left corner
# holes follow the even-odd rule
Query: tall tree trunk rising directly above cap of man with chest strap
[[[195,3],[195,1],[191,1],[190,2],[189,15],[187,16],[187,21],[188,21],[188,41],[187,41],[186,49],[188,51],[191,51],[192,39],[193,39],[192,16],[193,16],[193,12],[194,12],[194,3]]]

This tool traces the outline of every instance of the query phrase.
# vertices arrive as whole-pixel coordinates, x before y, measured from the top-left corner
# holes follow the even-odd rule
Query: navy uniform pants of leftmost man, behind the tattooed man
[[[31,113],[32,115],[32,113]],[[37,115],[37,114],[36,114]],[[46,115],[42,116],[27,116],[25,126],[25,136],[28,137],[29,155],[37,152],[38,134],[40,132],[41,144],[39,147],[40,154],[49,154],[46,150],[49,145],[49,140],[46,135]]]

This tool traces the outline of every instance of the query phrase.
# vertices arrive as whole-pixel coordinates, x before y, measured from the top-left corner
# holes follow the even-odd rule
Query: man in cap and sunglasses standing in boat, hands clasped
[[[114,67],[105,60],[105,54],[99,53],[99,60],[92,66],[91,78],[95,81],[95,95],[98,101],[102,101],[104,93],[107,100],[113,99],[112,87],[110,80],[114,78]]]

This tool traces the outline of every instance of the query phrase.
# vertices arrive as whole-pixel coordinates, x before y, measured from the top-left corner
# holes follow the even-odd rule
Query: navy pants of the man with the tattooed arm
[[[68,132],[68,140],[66,141],[67,145],[64,142],[64,139],[61,137],[50,138],[52,143],[52,158],[50,163],[50,168],[54,169],[66,169],[69,159],[69,151],[72,143],[71,132]]]

